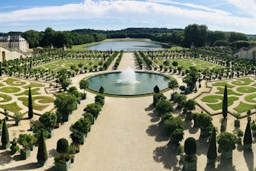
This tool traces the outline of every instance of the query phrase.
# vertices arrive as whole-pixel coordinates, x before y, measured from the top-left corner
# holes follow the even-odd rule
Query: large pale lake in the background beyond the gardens
[[[112,41],[100,43],[92,46],[86,47],[90,50],[124,50],[124,51],[134,51],[134,50],[160,50],[163,47],[159,43],[154,43],[151,41]]]

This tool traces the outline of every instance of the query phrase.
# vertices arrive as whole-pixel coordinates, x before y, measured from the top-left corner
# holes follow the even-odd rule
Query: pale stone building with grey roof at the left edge
[[[21,36],[0,36],[0,45],[22,52],[27,52],[29,48],[27,40]]]

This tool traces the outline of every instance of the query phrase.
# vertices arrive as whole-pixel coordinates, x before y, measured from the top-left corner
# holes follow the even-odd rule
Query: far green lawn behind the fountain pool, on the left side
[[[40,67],[37,67],[38,69],[47,69],[47,70],[51,70],[51,71],[60,71],[60,69],[67,69],[70,70],[70,66],[74,65],[76,66],[76,68],[79,68],[78,65],[79,63],[83,64],[83,67],[87,67],[87,68],[92,68],[93,65],[98,65],[99,62],[98,61],[87,61],[87,60],[59,60],[56,62],[52,62],[50,64],[47,65],[43,65]],[[83,69],[83,68],[82,68]]]

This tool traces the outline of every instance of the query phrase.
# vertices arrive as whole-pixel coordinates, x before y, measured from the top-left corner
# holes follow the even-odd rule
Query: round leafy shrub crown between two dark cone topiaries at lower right
[[[230,132],[223,132],[217,137],[217,141],[219,144],[219,150],[222,151],[230,151],[235,149],[235,140],[236,136]]]

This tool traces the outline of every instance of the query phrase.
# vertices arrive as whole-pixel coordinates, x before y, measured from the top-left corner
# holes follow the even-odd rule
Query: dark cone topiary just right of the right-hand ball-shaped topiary
[[[217,157],[217,145],[216,145],[216,130],[212,128],[212,136],[209,141],[209,147],[207,151],[207,163],[214,164]]]

